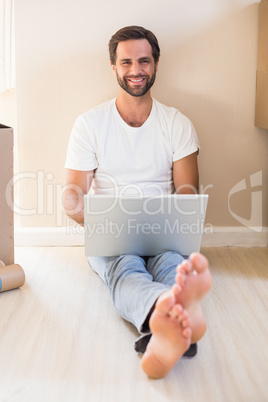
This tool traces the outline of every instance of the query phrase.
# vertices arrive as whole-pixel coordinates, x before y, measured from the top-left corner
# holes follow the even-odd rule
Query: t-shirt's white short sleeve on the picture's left
[[[72,129],[67,149],[65,168],[73,170],[94,170],[98,167],[94,127],[80,116]]]

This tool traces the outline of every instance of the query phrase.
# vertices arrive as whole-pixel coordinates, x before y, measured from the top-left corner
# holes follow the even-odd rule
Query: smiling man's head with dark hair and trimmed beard
[[[109,51],[120,87],[131,96],[144,96],[155,81],[160,56],[154,34],[137,26],[122,28],[112,36]]]

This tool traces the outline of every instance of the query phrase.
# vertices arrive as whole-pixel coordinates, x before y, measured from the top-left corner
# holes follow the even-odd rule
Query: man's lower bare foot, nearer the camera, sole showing
[[[152,378],[162,378],[189,348],[192,331],[187,312],[176,303],[173,290],[157,300],[150,318],[152,337],[142,357],[142,368]]]

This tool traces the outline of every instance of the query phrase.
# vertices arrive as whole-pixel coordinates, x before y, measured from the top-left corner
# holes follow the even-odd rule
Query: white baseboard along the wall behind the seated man
[[[83,246],[83,227],[15,228],[15,246]],[[213,227],[204,232],[202,247],[267,247],[268,228],[254,231],[246,227]]]

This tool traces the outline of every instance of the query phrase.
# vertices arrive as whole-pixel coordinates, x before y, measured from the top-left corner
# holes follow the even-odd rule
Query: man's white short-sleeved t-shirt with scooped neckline
[[[191,121],[153,99],[141,127],[129,126],[110,100],[78,117],[65,167],[95,170],[95,194],[170,194],[172,163],[199,149]]]

